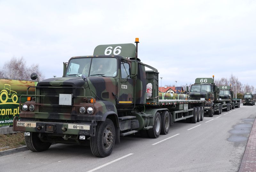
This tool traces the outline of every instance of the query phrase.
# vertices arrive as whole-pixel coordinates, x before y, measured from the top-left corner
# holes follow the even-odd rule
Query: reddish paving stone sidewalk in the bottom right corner
[[[241,162],[239,172],[256,171],[256,119],[245,148],[244,157]]]

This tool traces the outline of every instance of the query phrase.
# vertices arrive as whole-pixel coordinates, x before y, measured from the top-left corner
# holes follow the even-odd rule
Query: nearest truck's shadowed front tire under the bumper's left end
[[[45,151],[52,145],[50,142],[42,142],[36,132],[30,132],[30,136],[25,136],[25,142],[28,149],[33,152]]]

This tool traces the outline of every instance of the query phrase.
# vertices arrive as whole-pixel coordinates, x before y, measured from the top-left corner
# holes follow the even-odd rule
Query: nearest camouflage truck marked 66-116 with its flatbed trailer
[[[158,138],[174,121],[203,120],[205,101],[159,100],[158,71],[137,58],[135,42],[136,47],[99,45],[93,56],[72,57],[64,63],[63,77],[45,79],[35,95],[22,95],[28,101],[20,102],[20,121],[14,118],[13,130],[25,131],[28,149],[90,142],[95,156],[106,157],[120,136],[139,131],[142,137]],[[31,79],[36,78],[33,73]]]

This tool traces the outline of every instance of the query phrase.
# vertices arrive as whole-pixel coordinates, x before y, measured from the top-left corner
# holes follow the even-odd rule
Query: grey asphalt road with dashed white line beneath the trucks
[[[256,116],[240,106],[199,123],[176,122],[159,138],[126,136],[106,158],[90,146],[52,145],[0,157],[0,171],[238,171]]]

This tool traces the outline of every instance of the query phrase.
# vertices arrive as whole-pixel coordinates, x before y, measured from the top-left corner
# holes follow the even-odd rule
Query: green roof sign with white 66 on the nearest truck
[[[134,44],[109,44],[98,45],[93,52],[94,56],[123,56],[135,57],[136,47]]]

